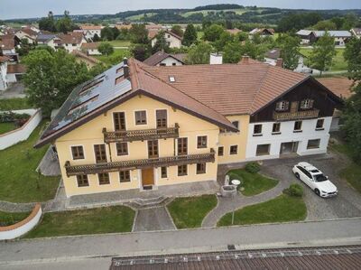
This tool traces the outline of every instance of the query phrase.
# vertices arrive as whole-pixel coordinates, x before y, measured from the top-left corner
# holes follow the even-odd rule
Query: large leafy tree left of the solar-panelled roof
[[[23,62],[26,95],[44,116],[51,116],[51,110],[60,107],[73,88],[90,79],[87,66],[65,50],[33,50]]]

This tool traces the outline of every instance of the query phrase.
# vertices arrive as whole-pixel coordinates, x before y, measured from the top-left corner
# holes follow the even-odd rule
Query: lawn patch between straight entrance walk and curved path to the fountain
[[[217,206],[215,195],[177,198],[168,204],[177,228],[198,228],[211,209]]]

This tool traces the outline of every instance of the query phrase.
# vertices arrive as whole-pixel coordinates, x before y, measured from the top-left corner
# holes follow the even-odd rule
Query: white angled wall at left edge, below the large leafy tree
[[[42,121],[42,111],[40,109],[21,109],[14,110],[13,112],[16,114],[28,114],[31,117],[22,127],[0,135],[0,150],[4,150],[7,147],[27,140],[32,134],[32,131]]]

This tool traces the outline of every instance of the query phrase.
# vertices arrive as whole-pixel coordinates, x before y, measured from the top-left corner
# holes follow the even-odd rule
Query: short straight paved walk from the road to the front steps
[[[170,214],[165,207],[139,209],[133,231],[153,231],[175,229]]]

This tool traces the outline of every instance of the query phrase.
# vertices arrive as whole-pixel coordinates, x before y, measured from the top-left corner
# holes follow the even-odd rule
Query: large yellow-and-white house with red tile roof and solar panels
[[[130,59],[75,88],[35,147],[56,146],[68,197],[215,182],[218,164],[326,153],[340,102],[310,76],[248,57]]]

